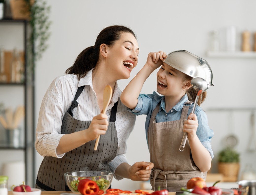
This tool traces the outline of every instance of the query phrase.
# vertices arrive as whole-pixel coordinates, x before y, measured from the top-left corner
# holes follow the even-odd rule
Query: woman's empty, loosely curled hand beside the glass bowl
[[[147,181],[149,180],[151,169],[154,163],[136,162],[129,169],[130,178],[133,181]]]

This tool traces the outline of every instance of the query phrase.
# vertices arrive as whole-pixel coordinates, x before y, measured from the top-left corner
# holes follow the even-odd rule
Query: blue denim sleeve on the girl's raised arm
[[[136,105],[136,107],[131,110],[131,109],[127,109],[128,111],[138,115],[141,114],[148,114],[148,112],[150,111],[150,108],[152,107],[152,95],[145,95],[145,94],[140,94],[138,97],[138,103]]]

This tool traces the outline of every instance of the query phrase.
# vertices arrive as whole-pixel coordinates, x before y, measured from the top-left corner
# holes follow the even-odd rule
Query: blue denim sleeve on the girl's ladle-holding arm
[[[211,149],[211,138],[213,137],[213,130],[209,128],[208,119],[206,113],[203,110],[198,110],[196,116],[198,120],[198,128],[196,134],[202,145],[206,148],[206,150],[208,150],[211,158],[213,159],[214,155]]]

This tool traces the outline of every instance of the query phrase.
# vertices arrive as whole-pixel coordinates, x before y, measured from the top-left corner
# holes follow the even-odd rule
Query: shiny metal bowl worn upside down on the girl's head
[[[210,65],[193,53],[186,50],[174,51],[169,53],[163,62],[193,78],[205,79],[208,85],[214,86]]]

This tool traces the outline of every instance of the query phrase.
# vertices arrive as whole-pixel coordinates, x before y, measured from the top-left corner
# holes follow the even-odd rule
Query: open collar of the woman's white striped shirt
[[[80,81],[78,82],[78,87],[81,87],[83,85],[89,85],[91,87],[91,89],[93,89],[93,87],[92,87],[92,70],[93,69],[94,68],[89,70],[88,73],[84,77],[80,78]],[[117,102],[120,95],[121,95],[121,90],[119,89],[118,83],[116,82],[115,83],[114,94],[113,94],[113,97],[111,99],[111,102],[113,104],[115,102]]]

